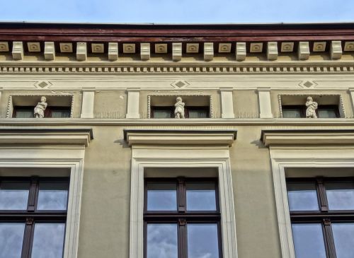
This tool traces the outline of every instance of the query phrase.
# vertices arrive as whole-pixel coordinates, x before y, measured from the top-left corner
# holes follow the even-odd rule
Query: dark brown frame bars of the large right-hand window
[[[319,211],[290,211],[290,221],[294,223],[321,223],[327,258],[336,258],[332,222],[354,223],[354,210],[329,210],[325,182],[354,182],[354,177],[297,177],[287,178],[289,183],[312,182],[316,184]]]

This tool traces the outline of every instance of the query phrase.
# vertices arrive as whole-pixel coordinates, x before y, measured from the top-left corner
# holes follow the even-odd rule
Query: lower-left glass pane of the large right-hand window
[[[326,258],[322,225],[292,224],[296,258]]]

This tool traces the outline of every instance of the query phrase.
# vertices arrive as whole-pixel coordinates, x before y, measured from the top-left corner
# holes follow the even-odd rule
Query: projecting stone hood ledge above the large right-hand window
[[[268,146],[353,145],[352,129],[270,129],[262,130],[261,141]]]

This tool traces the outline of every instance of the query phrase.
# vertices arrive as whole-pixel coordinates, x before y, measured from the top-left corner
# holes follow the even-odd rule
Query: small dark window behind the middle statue
[[[173,118],[174,107],[152,107],[152,118]],[[208,118],[209,107],[185,107],[185,118]]]

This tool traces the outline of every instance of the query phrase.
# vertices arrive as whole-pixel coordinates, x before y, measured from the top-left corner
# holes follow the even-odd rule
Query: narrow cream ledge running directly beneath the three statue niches
[[[354,127],[354,119],[0,119],[0,127],[22,126],[134,126],[134,127],[237,127],[264,126],[272,128],[299,127]]]

